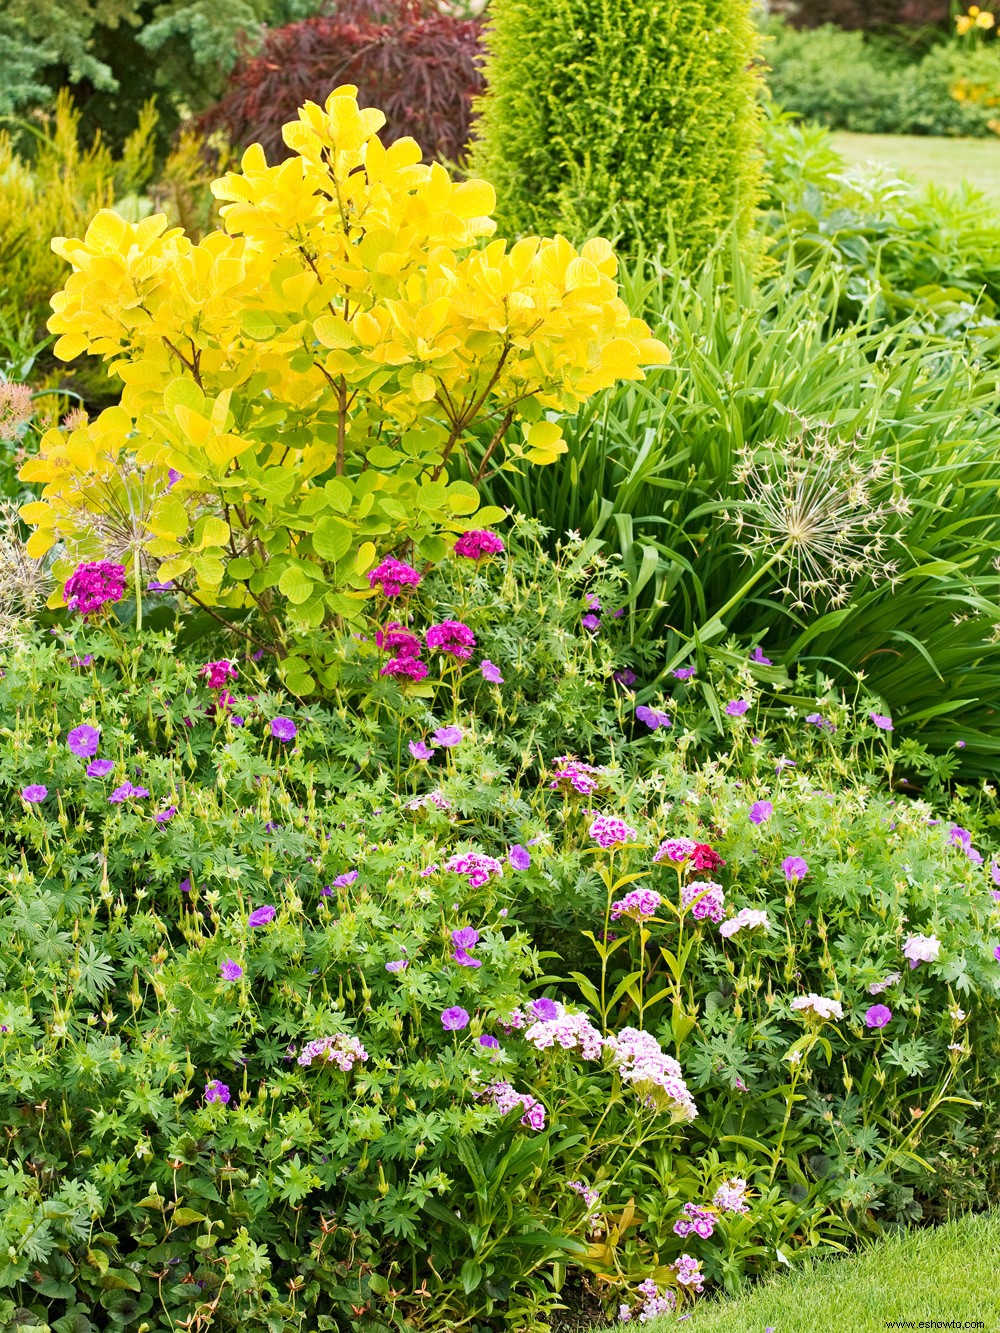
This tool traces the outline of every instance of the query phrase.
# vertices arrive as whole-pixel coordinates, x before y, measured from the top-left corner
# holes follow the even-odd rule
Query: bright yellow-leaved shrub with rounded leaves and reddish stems
[[[384,148],[383,123],[352,87],[307,103],[293,157],[255,145],[213,184],[224,224],[200,244],[109,211],[53,241],[73,267],[56,355],[97,353],[124,388],[24,464],[31,552],[61,541],[67,564],[117,557],[256,608],[299,690],[380,555],[437,560],[501,517],[449,480],[469,432],[491,467],[552,463],[557,413],[668,360],[607,241],[489,240],[492,188],[411,139]]]

